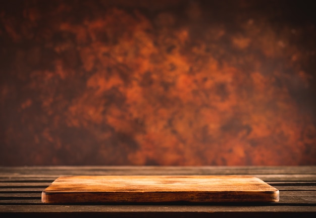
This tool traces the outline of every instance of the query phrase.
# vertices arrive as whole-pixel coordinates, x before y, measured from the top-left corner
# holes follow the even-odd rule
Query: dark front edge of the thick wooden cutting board
[[[42,203],[160,203],[160,202],[189,202],[189,203],[224,203],[224,202],[279,202],[279,190],[275,191],[178,191],[178,192],[55,192],[45,190],[41,193]],[[177,195],[177,196],[173,196]],[[205,198],[209,195],[209,198]],[[238,195],[238,198],[236,198]],[[144,197],[147,196],[147,197]],[[142,200],[141,200],[142,199]]]

